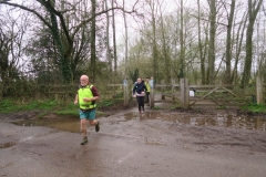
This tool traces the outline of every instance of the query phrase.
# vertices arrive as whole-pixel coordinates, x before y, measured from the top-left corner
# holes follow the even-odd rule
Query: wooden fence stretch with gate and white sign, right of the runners
[[[187,79],[181,79],[176,84],[173,80],[171,84],[157,84],[156,93],[162,94],[162,100],[171,97],[178,101],[182,107],[193,106],[195,104],[216,104],[226,105],[245,105],[252,102],[262,103],[263,88],[259,88],[259,82],[256,82],[249,88],[242,88],[242,85],[190,85]],[[256,90],[255,90],[256,88]],[[154,101],[153,101],[154,102]]]

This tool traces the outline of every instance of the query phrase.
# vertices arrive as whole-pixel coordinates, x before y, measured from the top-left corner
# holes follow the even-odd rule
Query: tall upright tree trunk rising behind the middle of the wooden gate
[[[231,61],[232,61],[232,24],[235,13],[235,0],[232,0],[231,4],[231,13],[228,17],[228,25],[227,25],[227,37],[226,37],[226,51],[225,51],[225,61],[226,61],[226,70],[225,70],[225,84],[232,84],[231,81]]]

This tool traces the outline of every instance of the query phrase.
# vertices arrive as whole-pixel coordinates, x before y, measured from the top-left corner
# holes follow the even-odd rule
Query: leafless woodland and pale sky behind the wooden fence
[[[263,0],[0,0],[0,98],[81,74],[247,87],[266,77],[265,29]]]

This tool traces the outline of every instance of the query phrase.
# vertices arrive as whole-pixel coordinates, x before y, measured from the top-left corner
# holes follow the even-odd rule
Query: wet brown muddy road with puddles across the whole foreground
[[[27,114],[29,117],[29,114]],[[25,115],[24,115],[25,116]],[[264,117],[123,110],[99,117],[81,146],[79,118],[0,121],[0,177],[263,177]],[[17,124],[13,124],[13,122]]]

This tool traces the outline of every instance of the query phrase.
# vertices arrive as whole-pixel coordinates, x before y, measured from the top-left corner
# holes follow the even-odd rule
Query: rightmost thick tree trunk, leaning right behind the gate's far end
[[[250,70],[253,62],[253,32],[254,32],[254,23],[258,13],[258,10],[262,6],[263,0],[255,1],[248,0],[248,25],[246,31],[246,60],[243,71],[242,85],[244,87],[247,86],[250,79]],[[256,4],[257,3],[257,4]]]

